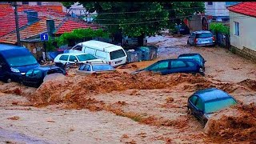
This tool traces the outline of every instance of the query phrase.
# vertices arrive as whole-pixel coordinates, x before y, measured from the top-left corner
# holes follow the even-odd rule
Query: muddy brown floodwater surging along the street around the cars
[[[206,77],[129,74],[157,59],[128,64],[117,74],[78,76],[70,70],[66,78],[48,78],[38,89],[0,83],[0,130],[49,143],[256,141],[254,62],[223,48],[185,46],[186,37],[156,37],[149,42],[159,46],[158,59],[202,54]],[[215,114],[204,129],[188,114],[186,102],[194,91],[210,87],[225,90],[242,105]],[[0,142],[7,141],[19,142],[2,136]]]

